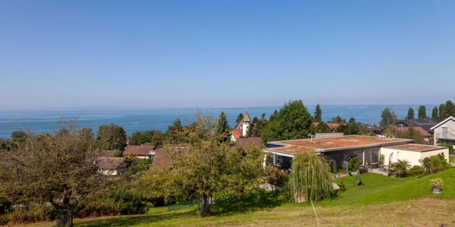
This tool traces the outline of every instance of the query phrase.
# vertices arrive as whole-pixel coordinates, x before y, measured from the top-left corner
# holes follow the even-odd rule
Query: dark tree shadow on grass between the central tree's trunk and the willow
[[[217,216],[249,213],[274,208],[284,202],[279,193],[260,190],[257,193],[248,193],[233,201],[215,204],[213,205],[213,211]]]

